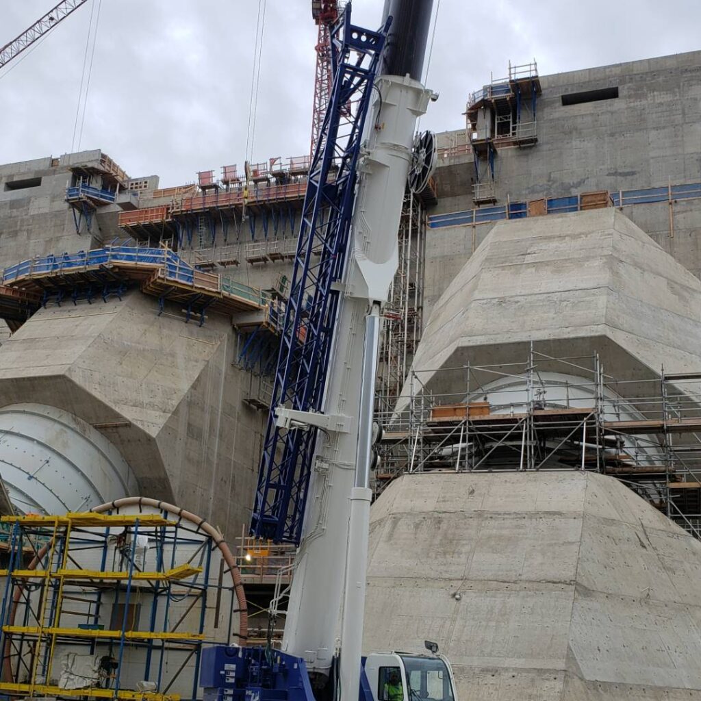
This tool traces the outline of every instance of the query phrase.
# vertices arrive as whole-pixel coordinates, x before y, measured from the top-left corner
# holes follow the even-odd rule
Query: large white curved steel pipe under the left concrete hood
[[[85,511],[137,492],[130,466],[107,437],[46,404],[0,409],[0,477],[22,514]]]

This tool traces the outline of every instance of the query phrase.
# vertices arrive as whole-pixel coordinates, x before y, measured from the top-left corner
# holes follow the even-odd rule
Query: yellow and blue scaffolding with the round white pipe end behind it
[[[205,630],[207,641],[231,642],[234,594],[212,538],[165,512],[2,522],[11,530],[0,693],[197,697]]]

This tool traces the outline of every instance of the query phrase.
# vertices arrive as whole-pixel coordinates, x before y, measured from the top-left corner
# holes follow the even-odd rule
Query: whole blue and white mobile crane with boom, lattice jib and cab
[[[361,661],[381,314],[397,271],[416,120],[433,97],[421,84],[432,6],[386,0],[374,32],[351,24],[349,4],[331,29],[333,85],[251,523],[254,536],[299,544],[283,646],[205,651],[203,701],[454,701],[435,644],[426,644],[430,655]]]

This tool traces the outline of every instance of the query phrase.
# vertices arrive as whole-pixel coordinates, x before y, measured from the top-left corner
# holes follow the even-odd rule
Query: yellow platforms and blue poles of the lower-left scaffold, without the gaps
[[[200,615],[200,632],[179,632],[177,630],[126,630],[123,629],[102,629],[86,625],[86,627],[62,627],[60,618],[62,613],[66,615],[77,615],[74,611],[63,610],[64,587],[66,585],[76,585],[79,587],[89,587],[97,592],[104,590],[115,590],[117,592],[125,592],[124,620],[127,617],[128,601],[131,593],[132,583],[147,582],[152,585],[149,592],[156,597],[157,585],[161,583],[163,590],[170,590],[172,583],[183,583],[185,587],[192,589],[201,589],[197,594],[190,594],[195,597],[193,604],[187,609],[190,611],[192,606],[196,604],[198,599],[202,599],[201,606],[205,606],[205,592],[208,585],[210,554],[212,547],[203,547],[202,557],[206,559],[205,568],[193,566],[188,562],[179,566],[171,566],[166,569],[163,566],[163,571],[139,571],[135,568],[135,544],[137,541],[137,533],[139,529],[156,529],[161,532],[161,529],[175,529],[172,540],[172,548],[175,550],[177,543],[177,529],[182,527],[180,522],[170,521],[169,519],[156,514],[97,514],[93,512],[74,513],[69,512],[65,516],[4,516],[0,521],[13,526],[11,531],[9,552],[9,566],[7,569],[0,570],[0,577],[5,578],[5,596],[0,609],[0,649],[3,651],[4,659],[8,656],[8,650],[13,648],[13,636],[20,639],[20,648],[17,655],[22,655],[22,649],[27,652],[31,651],[31,667],[29,669],[29,682],[18,683],[16,681],[1,681],[0,693],[11,693],[13,695],[35,696],[62,696],[62,697],[94,697],[94,698],[115,698],[125,700],[144,700],[144,701],[178,701],[179,695],[161,693],[160,690],[154,692],[138,691],[131,689],[123,689],[118,687],[119,672],[123,661],[123,647],[125,643],[135,644],[137,641],[161,641],[161,655],[163,655],[163,644],[166,641],[177,644],[177,646],[186,646],[193,652],[198,653],[202,642],[205,639],[202,626],[204,622],[204,613]],[[104,529],[104,531],[84,531],[90,533],[90,540],[95,539],[95,547],[108,547],[110,529],[125,529],[130,533],[130,549],[131,556],[127,557],[129,568],[126,570],[108,571],[107,569],[80,569],[74,566],[76,563],[70,556],[71,538],[74,531],[82,529]],[[206,543],[208,538],[198,533],[199,538],[203,538],[203,543]],[[26,556],[26,543],[29,542],[36,554],[36,559],[39,560],[37,566],[41,569],[27,569],[24,566],[24,557]],[[192,541],[190,541],[192,542]],[[39,551],[39,543],[43,543],[43,554]],[[199,550],[199,548],[198,548]],[[104,552],[107,552],[105,550]],[[40,557],[41,555],[41,557]],[[175,557],[174,555],[172,557]],[[70,562],[72,561],[72,562]],[[106,562],[106,556],[103,557],[103,565]],[[187,583],[184,580],[197,578],[204,573],[203,586],[193,586],[193,583]],[[41,589],[39,604],[36,607],[36,612],[32,613],[32,617],[36,619],[37,625],[14,625],[14,609],[17,602],[25,597],[23,604],[29,611],[29,596],[26,593],[26,588],[29,583],[33,587]],[[115,587],[117,587],[115,589]],[[17,593],[19,592],[19,594]],[[17,599],[17,597],[20,597]],[[69,597],[71,598],[71,597]],[[15,601],[16,599],[16,601]],[[97,605],[100,605],[100,594],[96,600]],[[155,609],[154,609],[155,610]],[[204,608],[202,609],[204,611]],[[177,628],[182,622],[184,615],[175,624]],[[83,615],[82,613],[80,615]],[[90,608],[84,613],[86,618],[95,618],[96,614],[91,613]],[[95,618],[97,620],[97,618]],[[151,625],[155,619],[151,618]],[[164,619],[167,620],[167,619]],[[56,653],[57,641],[66,642],[70,640],[92,640],[92,641],[119,641],[119,667],[116,672],[115,688],[102,688],[90,686],[81,689],[67,689],[50,683],[53,662]],[[16,647],[16,646],[15,646]],[[156,651],[159,648],[155,648]],[[149,647],[148,655],[151,654]],[[197,660],[199,654],[197,654]],[[162,657],[161,657],[162,665]],[[183,665],[184,667],[184,665]],[[182,667],[181,667],[182,669]],[[179,672],[177,673],[179,674]],[[176,676],[177,676],[176,674]],[[193,683],[196,684],[196,676]],[[160,680],[160,672],[159,672]],[[174,681],[174,680],[173,680]],[[171,681],[172,683],[172,681]],[[165,688],[168,691],[170,685]],[[194,695],[194,694],[193,694]]]

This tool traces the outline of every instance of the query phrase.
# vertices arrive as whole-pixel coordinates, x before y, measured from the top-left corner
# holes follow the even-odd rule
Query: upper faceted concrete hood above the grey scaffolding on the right
[[[620,372],[604,358],[618,379],[632,362],[695,371],[701,281],[612,207],[501,222],[442,294],[412,368],[428,383],[428,369],[494,362],[477,348],[569,339],[625,349]]]

